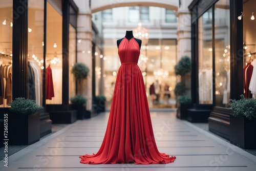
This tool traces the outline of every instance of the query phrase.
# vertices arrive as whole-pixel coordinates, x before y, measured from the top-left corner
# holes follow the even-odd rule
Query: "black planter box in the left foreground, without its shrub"
[[[8,115],[8,144],[30,145],[40,139],[39,113],[32,115]]]

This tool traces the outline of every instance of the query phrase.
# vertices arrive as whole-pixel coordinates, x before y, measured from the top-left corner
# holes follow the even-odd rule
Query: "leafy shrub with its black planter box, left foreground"
[[[11,102],[9,121],[9,144],[29,145],[40,139],[40,116],[37,110],[44,109],[35,100],[24,97]]]

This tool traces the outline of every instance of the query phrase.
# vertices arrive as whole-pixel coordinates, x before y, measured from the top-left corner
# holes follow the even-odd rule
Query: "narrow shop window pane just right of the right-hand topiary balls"
[[[211,8],[198,19],[198,94],[200,104],[212,104]]]

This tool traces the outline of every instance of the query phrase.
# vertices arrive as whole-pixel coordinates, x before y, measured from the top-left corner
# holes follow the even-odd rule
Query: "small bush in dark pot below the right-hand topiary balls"
[[[177,100],[180,104],[180,108],[178,108],[177,116],[180,119],[187,119],[187,109],[191,106],[191,98],[187,95],[182,95]]]

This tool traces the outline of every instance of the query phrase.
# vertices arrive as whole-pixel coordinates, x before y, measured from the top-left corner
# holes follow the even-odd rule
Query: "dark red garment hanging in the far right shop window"
[[[244,90],[245,90],[244,97],[245,98],[252,97],[251,91],[249,90],[252,71],[253,71],[253,66],[251,65],[251,62],[248,62],[244,68]]]

